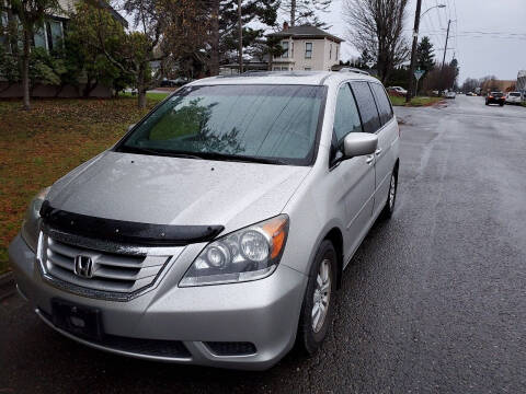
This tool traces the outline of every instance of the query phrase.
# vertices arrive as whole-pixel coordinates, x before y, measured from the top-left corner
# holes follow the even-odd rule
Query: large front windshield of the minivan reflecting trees
[[[183,88],[155,109],[117,151],[308,165],[323,86]]]

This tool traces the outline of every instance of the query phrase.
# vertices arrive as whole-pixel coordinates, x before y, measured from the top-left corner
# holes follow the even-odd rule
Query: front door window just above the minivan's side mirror
[[[334,135],[338,144],[350,132],[362,131],[362,123],[359,121],[358,108],[353,97],[353,92],[345,83],[338,92],[336,111],[334,112]]]

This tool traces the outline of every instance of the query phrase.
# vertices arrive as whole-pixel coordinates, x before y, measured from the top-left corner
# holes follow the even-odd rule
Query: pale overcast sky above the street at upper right
[[[345,38],[342,18],[343,3],[333,0],[331,11],[320,16],[332,24],[330,32]],[[416,0],[409,0],[405,32],[411,38]],[[518,70],[526,70],[526,0],[423,0],[422,12],[430,7],[446,4],[445,9],[427,12],[421,22],[420,37],[428,35],[435,45],[435,56],[442,61],[447,21],[451,21],[446,60],[456,56],[460,67],[459,82],[468,77],[494,74],[514,80]],[[489,33],[489,34],[488,34]],[[352,43],[344,43],[342,59],[356,56]]]

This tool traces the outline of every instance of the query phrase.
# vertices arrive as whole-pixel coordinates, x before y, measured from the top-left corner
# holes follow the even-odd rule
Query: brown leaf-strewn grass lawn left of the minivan
[[[148,94],[148,107],[164,96]],[[33,196],[110,148],[146,112],[130,97],[35,100],[31,112],[0,101],[0,274]]]

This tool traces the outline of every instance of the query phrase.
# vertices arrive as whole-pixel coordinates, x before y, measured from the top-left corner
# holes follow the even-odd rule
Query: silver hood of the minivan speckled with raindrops
[[[107,151],[60,178],[47,199],[98,218],[230,231],[278,215],[309,170]]]

